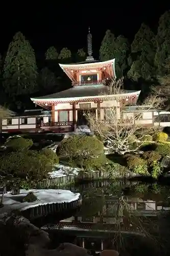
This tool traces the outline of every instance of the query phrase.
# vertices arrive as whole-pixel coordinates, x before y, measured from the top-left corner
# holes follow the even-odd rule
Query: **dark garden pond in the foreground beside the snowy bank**
[[[126,250],[127,255],[149,251],[157,255],[160,250],[166,255],[170,239],[170,186],[137,180],[101,180],[67,189],[81,193],[79,209],[34,221],[50,233],[55,246],[56,241],[74,242],[95,251],[102,246]]]

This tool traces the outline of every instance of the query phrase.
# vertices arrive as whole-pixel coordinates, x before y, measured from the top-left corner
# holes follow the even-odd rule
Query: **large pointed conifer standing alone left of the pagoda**
[[[10,42],[3,69],[4,88],[11,98],[37,90],[34,50],[21,32]]]

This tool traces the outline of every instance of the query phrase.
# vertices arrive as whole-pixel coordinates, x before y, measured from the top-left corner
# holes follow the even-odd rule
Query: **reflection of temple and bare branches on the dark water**
[[[81,193],[81,208],[73,216],[43,228],[60,232],[60,236],[69,234],[76,238],[77,245],[95,251],[120,250],[125,241],[128,246],[139,238],[143,243],[143,239],[147,242],[161,233],[159,217],[169,209],[169,187],[137,181],[100,181],[71,189]]]

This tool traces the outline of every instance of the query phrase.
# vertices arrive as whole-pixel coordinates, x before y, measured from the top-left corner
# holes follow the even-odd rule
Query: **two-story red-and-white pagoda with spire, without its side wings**
[[[87,110],[96,119],[105,120],[109,106],[118,106],[120,99],[135,104],[140,91],[110,95],[107,79],[115,79],[115,59],[107,61],[94,60],[92,57],[92,36],[87,36],[88,57],[85,61],[69,65],[59,64],[72,82],[72,88],[31,100],[42,108],[51,110],[51,120],[43,124],[48,129],[62,126],[62,130],[76,131],[77,125],[85,124],[83,115]],[[117,108],[117,111],[119,109]],[[118,113],[117,113],[118,114]],[[50,122],[51,121],[51,122]]]

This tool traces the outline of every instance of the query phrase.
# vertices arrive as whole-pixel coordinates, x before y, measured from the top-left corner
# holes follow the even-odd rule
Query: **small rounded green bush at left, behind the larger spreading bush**
[[[32,140],[25,139],[23,137],[16,137],[13,139],[11,138],[7,140],[7,142],[5,143],[5,146],[12,148],[13,151],[27,150],[32,145],[33,145]]]

